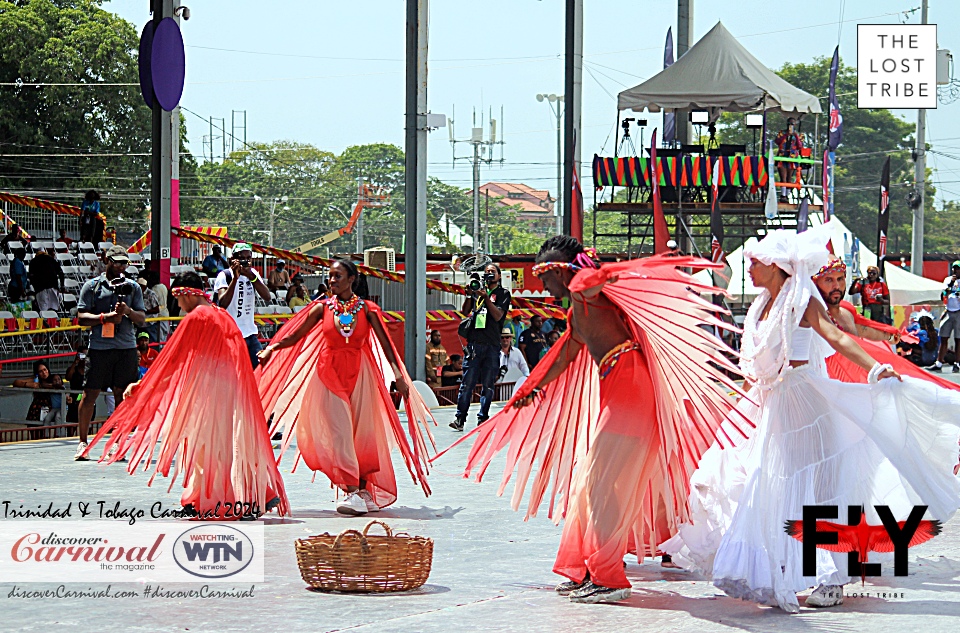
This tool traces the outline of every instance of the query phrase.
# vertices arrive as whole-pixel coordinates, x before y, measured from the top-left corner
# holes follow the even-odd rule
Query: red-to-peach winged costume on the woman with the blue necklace
[[[393,369],[370,327],[371,319],[383,323],[380,309],[371,301],[364,304],[348,339],[337,331],[332,310],[325,305],[318,327],[296,344],[275,351],[257,372],[263,409],[273,415],[271,433],[283,432],[281,456],[296,436],[294,469],[302,459],[341,490],[364,481],[374,502],[383,508],[397,498],[390,461],[394,445],[413,481],[430,494],[427,442],[434,451],[436,447],[428,424],[436,422],[394,348],[410,386],[410,395],[404,398],[404,432],[388,391],[395,379]],[[273,342],[289,336],[309,312],[307,307],[290,319]]]

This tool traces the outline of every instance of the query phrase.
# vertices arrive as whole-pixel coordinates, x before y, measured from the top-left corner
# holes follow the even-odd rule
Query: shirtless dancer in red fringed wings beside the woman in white
[[[728,390],[739,390],[719,369],[736,371],[728,348],[700,327],[728,327],[695,294],[720,291],[680,270],[710,262],[651,257],[598,268],[592,256],[568,236],[540,249],[534,274],[572,300],[570,327],[508,407],[470,434],[478,437],[467,475],[482,477],[509,446],[499,492],[518,469],[516,508],[532,475],[527,517],[552,482],[550,516],[566,518],[554,571],[570,579],[557,591],[613,602],[630,595],[628,548],[653,556],[688,516],[690,474],[722,433]],[[745,437],[740,421],[729,428]]]

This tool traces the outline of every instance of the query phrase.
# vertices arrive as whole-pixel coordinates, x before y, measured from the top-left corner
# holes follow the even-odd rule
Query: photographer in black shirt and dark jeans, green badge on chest
[[[483,385],[483,392],[477,424],[483,424],[490,417],[493,385],[500,373],[500,332],[510,311],[511,299],[510,292],[500,285],[500,268],[496,264],[488,264],[482,278],[477,273],[471,274],[467,293],[460,311],[470,316],[461,322],[458,330],[460,336],[467,339],[463,382],[457,394],[457,417],[450,423],[456,431],[463,430],[478,382]]]

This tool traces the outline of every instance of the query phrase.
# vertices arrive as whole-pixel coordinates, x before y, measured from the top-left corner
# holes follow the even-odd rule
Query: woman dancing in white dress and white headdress
[[[847,506],[864,506],[867,523],[879,525],[877,505],[890,506],[898,521],[914,505],[946,521],[960,505],[960,397],[899,380],[830,323],[811,280],[827,262],[828,239],[820,227],[773,231],[746,249],[751,277],[765,288],[747,314],[741,348],[753,388],[738,409],[756,430],[704,454],[690,481],[692,521],[661,547],[728,595],[791,613],[799,611],[797,592],[817,587],[807,606],[834,606],[850,582],[847,555],[821,549],[817,575],[803,576],[803,546],[784,531],[785,521],[803,518],[803,506],[839,506],[840,523]],[[872,366],[872,384],[827,378],[831,347]]]

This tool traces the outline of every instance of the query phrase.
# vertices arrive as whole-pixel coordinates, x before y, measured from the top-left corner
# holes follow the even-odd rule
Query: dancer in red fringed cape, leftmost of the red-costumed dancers
[[[129,453],[133,474],[141,461],[143,470],[151,468],[159,441],[149,483],[176,464],[170,487],[182,472],[181,503],[200,519],[256,518],[277,505],[289,514],[246,343],[202,288],[195,273],[174,281],[171,292],[186,318],[87,450],[112,433],[101,461]]]

